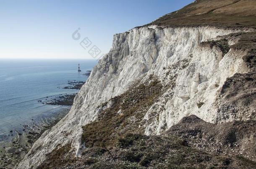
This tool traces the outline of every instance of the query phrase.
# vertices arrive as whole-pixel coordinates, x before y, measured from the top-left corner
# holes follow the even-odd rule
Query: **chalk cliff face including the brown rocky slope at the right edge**
[[[144,108],[143,122],[137,126],[146,135],[159,135],[191,114],[217,124],[256,120],[255,61],[246,60],[252,49],[235,46],[243,33],[251,31],[152,24],[114,35],[112,49],[94,67],[69,114],[44,132],[18,168],[36,168],[47,154],[67,145],[67,153],[81,156],[86,148],[83,126],[111,108],[112,98],[136,84],[149,85],[152,77],[162,88],[154,91],[159,97]],[[233,81],[247,87],[239,91]]]

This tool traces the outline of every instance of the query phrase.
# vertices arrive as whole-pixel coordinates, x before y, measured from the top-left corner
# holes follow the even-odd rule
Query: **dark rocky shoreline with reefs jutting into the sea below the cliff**
[[[65,89],[78,89],[84,85],[84,81],[68,81]],[[19,129],[13,129],[0,136],[0,169],[12,169],[29,152],[34,142],[44,133],[58,123],[68,114],[73,105],[77,93],[47,96],[38,103],[64,106],[61,111],[52,117],[31,119],[29,124],[21,125]]]

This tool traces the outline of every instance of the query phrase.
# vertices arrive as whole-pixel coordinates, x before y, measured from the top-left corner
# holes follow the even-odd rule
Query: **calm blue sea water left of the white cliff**
[[[82,72],[78,73],[78,63]],[[93,60],[0,60],[0,135],[63,106],[38,103],[48,96],[76,93],[69,80],[86,81]]]

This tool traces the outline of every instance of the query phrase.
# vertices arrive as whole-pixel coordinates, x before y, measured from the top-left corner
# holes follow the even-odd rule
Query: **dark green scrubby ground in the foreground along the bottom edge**
[[[60,148],[48,154],[40,168],[88,168],[88,169],[144,169],[150,168],[252,168],[255,162],[243,157],[207,154],[193,149],[187,142],[170,134],[160,136],[126,133],[117,136],[107,148],[93,146],[82,152],[79,158],[68,154],[70,148]],[[67,155],[68,154],[68,155]],[[47,167],[46,167],[47,166]],[[61,166],[61,167],[60,167]]]

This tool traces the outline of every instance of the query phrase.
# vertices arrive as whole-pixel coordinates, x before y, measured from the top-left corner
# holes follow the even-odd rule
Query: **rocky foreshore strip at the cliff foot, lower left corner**
[[[0,136],[0,168],[13,168],[24,158],[33,146],[34,142],[52,126],[57,124],[71,106],[61,106],[54,114],[38,117],[20,128],[5,132]]]

